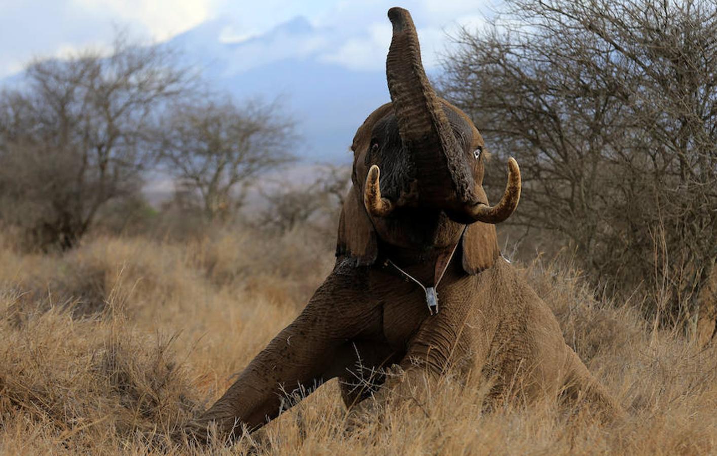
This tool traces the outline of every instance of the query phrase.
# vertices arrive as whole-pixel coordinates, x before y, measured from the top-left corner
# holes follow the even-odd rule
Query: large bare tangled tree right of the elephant
[[[701,315],[713,334],[717,4],[506,5],[484,31],[457,34],[442,90],[496,153],[518,156],[511,221],[558,233],[600,282],[660,290],[663,323]]]

